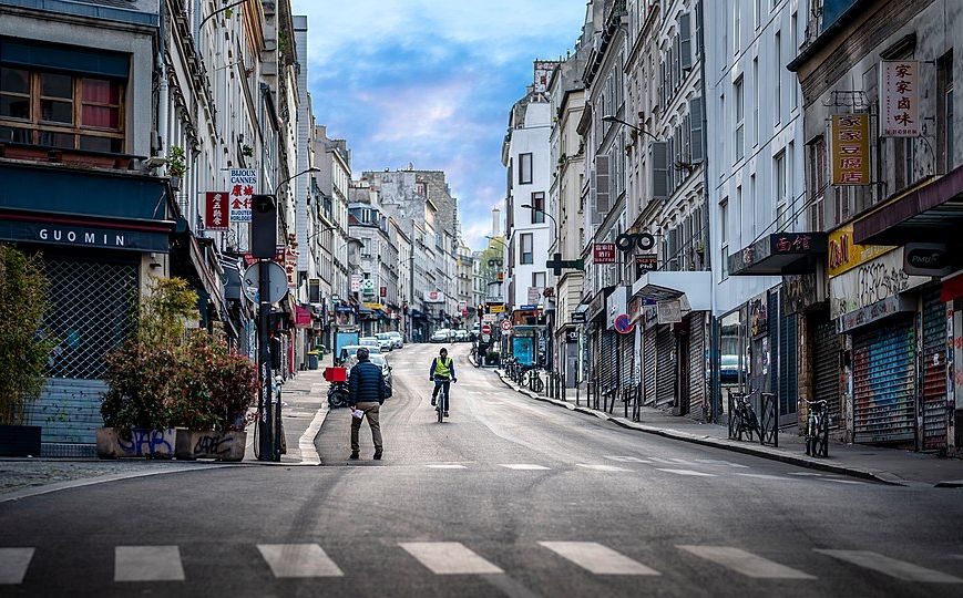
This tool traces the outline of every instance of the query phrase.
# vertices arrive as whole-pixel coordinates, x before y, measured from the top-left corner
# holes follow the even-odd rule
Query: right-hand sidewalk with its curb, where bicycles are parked
[[[669,415],[660,410],[643,408],[641,422],[624,417],[624,409],[616,404],[613,413],[576,405],[574,399],[562,401],[519,388],[501,370],[495,370],[501,381],[516,392],[532,399],[552,403],[571,411],[578,411],[607,420],[622,427],[657,434],[668,439],[751,454],[792,465],[810,467],[838,474],[874,480],[898,486],[963,487],[963,460],[939,457],[894,448],[881,448],[863,444],[831,443],[829,458],[810,457],[806,454],[802,437],[792,433],[779,434],[779,447],[764,446],[748,441],[734,441],[728,430],[716,424],[703,424],[687,417]]]

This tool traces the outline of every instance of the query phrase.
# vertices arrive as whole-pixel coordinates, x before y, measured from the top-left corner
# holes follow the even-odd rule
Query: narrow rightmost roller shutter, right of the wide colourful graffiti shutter
[[[940,290],[923,297],[923,450],[946,446],[946,305]]]

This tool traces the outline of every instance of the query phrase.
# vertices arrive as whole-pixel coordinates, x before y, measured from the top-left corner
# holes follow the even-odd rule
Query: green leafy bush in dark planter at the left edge
[[[0,245],[0,455],[40,455],[27,408],[43,390],[55,340],[42,331],[49,281],[39,255]]]

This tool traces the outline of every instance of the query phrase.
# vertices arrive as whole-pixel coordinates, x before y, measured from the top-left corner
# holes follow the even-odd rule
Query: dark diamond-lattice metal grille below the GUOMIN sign
[[[103,378],[104,355],[130,330],[137,292],[137,266],[69,258],[48,258],[51,309],[47,328],[60,339],[51,378]]]

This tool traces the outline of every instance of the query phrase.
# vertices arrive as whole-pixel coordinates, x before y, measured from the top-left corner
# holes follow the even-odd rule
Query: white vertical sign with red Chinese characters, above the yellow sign
[[[920,136],[920,63],[884,60],[880,63],[880,136]]]

